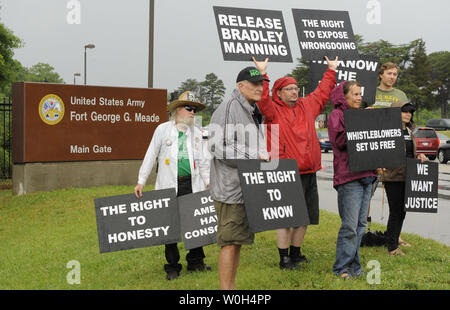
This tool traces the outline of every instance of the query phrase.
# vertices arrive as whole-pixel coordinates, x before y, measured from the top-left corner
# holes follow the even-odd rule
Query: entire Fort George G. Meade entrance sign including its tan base
[[[13,84],[13,193],[133,185],[165,89]]]

